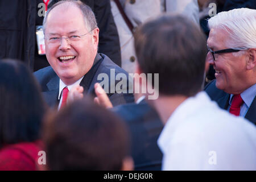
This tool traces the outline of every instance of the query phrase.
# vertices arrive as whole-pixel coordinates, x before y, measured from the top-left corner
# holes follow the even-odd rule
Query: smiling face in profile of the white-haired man
[[[225,42],[228,40],[228,34],[220,28],[212,28],[207,40],[208,47],[212,51],[218,51],[226,48]],[[207,61],[215,69],[216,87],[224,90],[226,93],[241,93],[245,89],[246,81],[246,59],[244,51],[237,52],[238,56],[233,53],[212,54],[208,52]]]

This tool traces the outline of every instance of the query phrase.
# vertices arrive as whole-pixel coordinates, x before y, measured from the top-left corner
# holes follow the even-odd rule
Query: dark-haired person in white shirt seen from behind
[[[134,38],[138,73],[159,73],[159,97],[148,102],[164,123],[162,169],[255,170],[256,127],[202,91],[207,47],[200,28],[166,15],[140,26]]]

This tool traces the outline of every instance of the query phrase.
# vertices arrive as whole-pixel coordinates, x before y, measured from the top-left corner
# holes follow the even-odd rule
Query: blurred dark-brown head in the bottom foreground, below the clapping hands
[[[125,123],[90,100],[74,101],[44,127],[48,170],[131,170]]]

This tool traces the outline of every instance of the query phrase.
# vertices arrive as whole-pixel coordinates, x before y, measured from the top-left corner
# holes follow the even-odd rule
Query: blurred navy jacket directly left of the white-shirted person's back
[[[127,124],[131,135],[131,156],[135,170],[161,170],[162,152],[157,140],[163,129],[158,114],[146,101],[112,109]]]

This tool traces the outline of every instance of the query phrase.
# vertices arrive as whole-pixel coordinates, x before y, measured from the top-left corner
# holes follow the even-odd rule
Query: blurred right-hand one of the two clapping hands
[[[95,90],[95,93],[96,93],[96,96],[97,96],[97,97],[94,98],[94,102],[96,104],[101,105],[105,108],[112,108],[113,107],[112,103],[109,100],[108,95],[106,94],[105,90],[102,89],[102,87],[99,83],[96,83],[94,85],[94,90]]]

